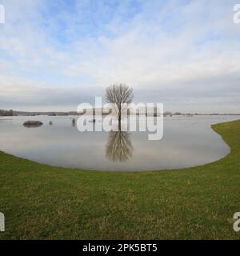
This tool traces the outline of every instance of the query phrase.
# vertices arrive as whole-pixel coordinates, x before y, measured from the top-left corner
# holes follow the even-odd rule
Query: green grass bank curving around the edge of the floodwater
[[[70,170],[0,152],[0,239],[240,239],[240,121],[213,129],[231,153],[185,170]]]

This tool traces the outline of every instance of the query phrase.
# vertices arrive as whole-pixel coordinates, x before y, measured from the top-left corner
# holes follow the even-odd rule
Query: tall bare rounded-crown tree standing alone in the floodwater
[[[134,98],[133,89],[126,84],[113,84],[106,88],[106,102],[117,107],[118,127],[121,130],[122,111]]]

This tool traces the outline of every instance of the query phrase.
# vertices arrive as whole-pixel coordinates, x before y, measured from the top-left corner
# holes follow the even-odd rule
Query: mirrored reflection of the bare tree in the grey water
[[[106,143],[106,158],[114,162],[126,162],[133,157],[134,147],[130,134],[125,131],[110,131]]]

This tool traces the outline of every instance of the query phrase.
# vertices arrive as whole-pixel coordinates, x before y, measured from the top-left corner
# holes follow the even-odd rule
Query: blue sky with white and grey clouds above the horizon
[[[121,82],[136,103],[240,113],[238,2],[0,0],[0,109],[77,110]]]

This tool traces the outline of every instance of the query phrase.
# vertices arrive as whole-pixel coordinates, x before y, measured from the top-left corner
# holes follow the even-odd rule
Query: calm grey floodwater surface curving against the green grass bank
[[[0,150],[51,166],[82,170],[180,169],[229,154],[229,146],[210,126],[239,116],[167,117],[160,141],[149,141],[147,132],[80,133],[72,118],[0,118]],[[27,128],[22,125],[27,120],[42,121],[43,125]]]

